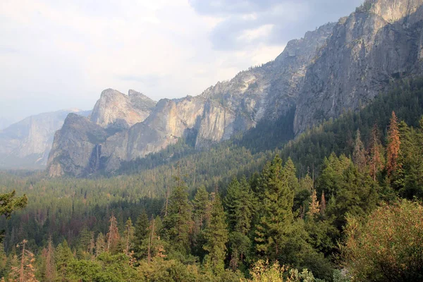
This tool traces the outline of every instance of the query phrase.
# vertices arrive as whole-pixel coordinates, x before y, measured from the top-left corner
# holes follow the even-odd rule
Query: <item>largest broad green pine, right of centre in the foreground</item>
[[[263,214],[256,226],[256,249],[270,259],[277,259],[281,249],[288,242],[293,225],[293,190],[291,164],[282,170],[282,160],[276,155],[262,173],[264,190]],[[296,179],[296,178],[295,178]]]

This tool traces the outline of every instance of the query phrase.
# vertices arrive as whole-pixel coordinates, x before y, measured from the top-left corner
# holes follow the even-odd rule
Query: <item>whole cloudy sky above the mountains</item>
[[[1,0],[0,117],[201,94],[362,0]]]

